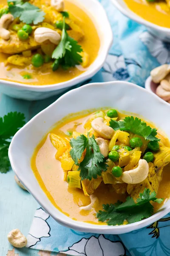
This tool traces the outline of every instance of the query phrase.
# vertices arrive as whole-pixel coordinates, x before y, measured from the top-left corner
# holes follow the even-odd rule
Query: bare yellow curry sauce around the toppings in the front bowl
[[[72,135],[66,135],[68,132],[77,131],[83,133],[85,128],[83,122],[87,120],[88,115],[79,114],[77,117],[68,117],[63,119],[51,133],[57,134],[62,138],[71,139]],[[119,118],[125,118],[125,114],[119,113]],[[147,123],[147,125],[150,125]],[[153,125],[150,125],[153,127]],[[158,131],[159,134],[159,131]],[[161,133],[159,137],[165,146],[170,147],[169,140],[163,137]],[[61,168],[61,162],[55,158],[57,149],[52,145],[50,135],[47,134],[44,139],[37,145],[31,159],[31,168],[51,203],[70,218],[88,222],[92,224],[105,224],[96,218],[96,212],[102,209],[102,204],[113,204],[118,200],[125,201],[127,193],[118,194],[111,184],[101,183],[94,191],[94,195],[99,199],[91,211],[80,210],[79,207],[86,206],[91,203],[89,196],[85,196],[82,189],[69,188],[67,181],[64,181],[65,171]],[[157,193],[158,198],[170,197],[170,166],[165,166],[163,178],[159,184]],[[66,172],[67,175],[68,172]],[[154,210],[158,210],[161,205],[154,203]]]

